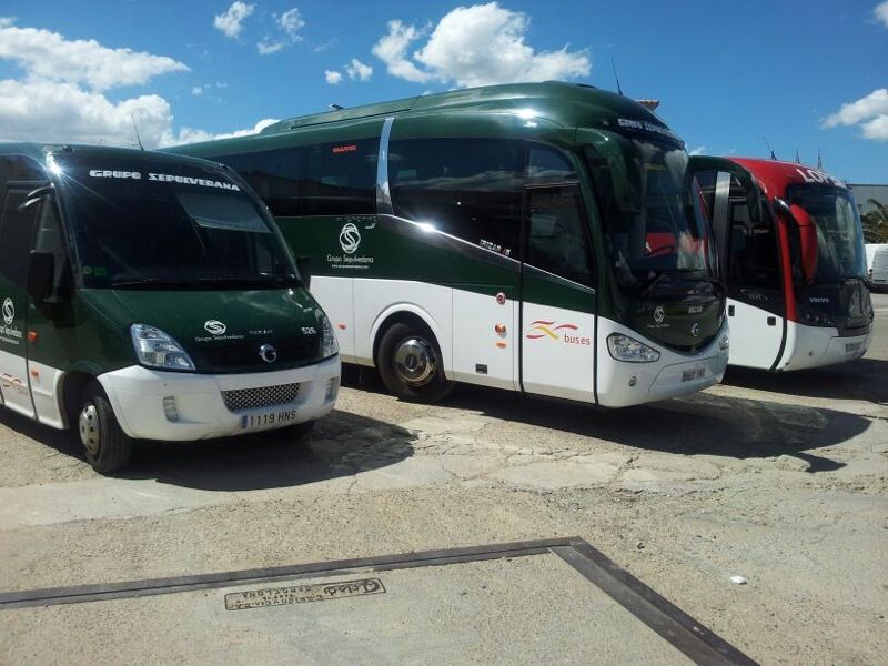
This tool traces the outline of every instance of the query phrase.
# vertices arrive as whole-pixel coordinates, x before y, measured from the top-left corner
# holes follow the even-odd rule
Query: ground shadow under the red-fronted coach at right
[[[768,372],[750,367],[728,367],[725,384],[756,391],[770,391],[806,397],[860,400],[888,404],[888,361],[858,359],[840,365]]]

